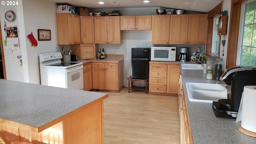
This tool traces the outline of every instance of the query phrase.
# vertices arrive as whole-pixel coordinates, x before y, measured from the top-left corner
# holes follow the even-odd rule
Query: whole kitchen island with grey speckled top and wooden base
[[[0,131],[10,142],[103,144],[108,94],[0,79]]]

